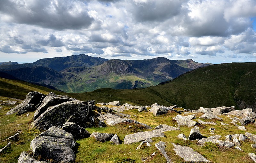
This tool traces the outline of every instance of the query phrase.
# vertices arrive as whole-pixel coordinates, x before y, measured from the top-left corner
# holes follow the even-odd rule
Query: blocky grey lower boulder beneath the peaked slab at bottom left
[[[74,146],[75,143],[71,139],[42,136],[31,141],[30,149],[34,157],[41,156],[55,162],[74,162]]]

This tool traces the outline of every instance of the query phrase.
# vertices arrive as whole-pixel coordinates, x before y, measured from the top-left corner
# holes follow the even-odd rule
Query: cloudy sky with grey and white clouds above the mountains
[[[256,0],[0,0],[0,62],[256,62]]]

